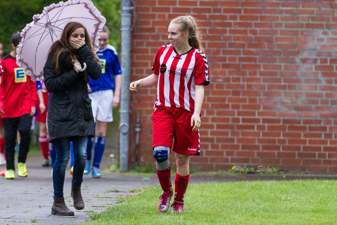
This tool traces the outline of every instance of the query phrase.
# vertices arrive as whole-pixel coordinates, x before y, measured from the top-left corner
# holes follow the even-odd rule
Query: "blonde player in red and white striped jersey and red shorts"
[[[166,212],[173,196],[168,158],[174,139],[177,173],[171,213],[182,213],[189,181],[189,156],[200,155],[200,112],[204,86],[210,79],[195,19],[192,16],[173,19],[167,34],[171,44],[159,48],[153,74],[130,83],[130,91],[158,84],[152,115],[153,157],[163,189],[158,209]]]

